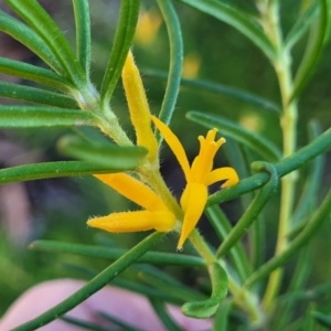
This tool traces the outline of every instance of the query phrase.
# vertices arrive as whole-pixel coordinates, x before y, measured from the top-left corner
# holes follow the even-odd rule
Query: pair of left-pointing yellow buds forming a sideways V
[[[157,193],[139,180],[124,172],[95,174],[95,177],[145,210],[94,217],[87,221],[89,226],[115,233],[147,229],[169,232],[174,227],[175,216]]]

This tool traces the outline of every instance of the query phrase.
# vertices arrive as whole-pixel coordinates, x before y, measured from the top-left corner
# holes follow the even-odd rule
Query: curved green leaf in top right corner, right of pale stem
[[[318,25],[311,31],[303,58],[295,77],[293,92],[290,100],[297,98],[311,76],[324,46],[330,25],[331,1],[319,0],[320,12]]]

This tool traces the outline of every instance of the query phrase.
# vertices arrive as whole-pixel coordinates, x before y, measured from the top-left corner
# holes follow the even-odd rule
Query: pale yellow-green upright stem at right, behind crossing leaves
[[[284,158],[291,156],[296,150],[297,136],[297,103],[290,100],[292,94],[291,61],[290,54],[284,47],[281,32],[279,29],[279,7],[278,2],[268,7],[265,11],[265,28],[278,50],[278,56],[274,61],[274,66],[279,82],[281,103],[282,103],[282,145]],[[279,227],[275,255],[281,254],[287,245],[287,233],[291,220],[293,209],[293,196],[296,186],[296,173],[290,173],[281,179],[281,197],[280,197],[280,215]],[[264,307],[268,310],[271,308],[273,300],[278,292],[278,288],[282,278],[282,268],[275,270],[269,278],[265,297]]]

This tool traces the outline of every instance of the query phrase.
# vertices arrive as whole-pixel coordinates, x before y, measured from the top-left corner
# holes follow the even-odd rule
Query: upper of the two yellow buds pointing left
[[[94,174],[94,177],[146,210],[167,210],[154,191],[127,173]]]

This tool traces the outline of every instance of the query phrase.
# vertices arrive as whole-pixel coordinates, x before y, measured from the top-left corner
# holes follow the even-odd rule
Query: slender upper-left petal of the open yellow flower
[[[182,143],[177,138],[177,136],[170,130],[170,128],[167,125],[164,125],[159,118],[152,116],[152,121],[154,122],[156,127],[160,130],[164,140],[167,141],[175,158],[178,159],[188,181],[190,177],[190,163]]]

